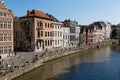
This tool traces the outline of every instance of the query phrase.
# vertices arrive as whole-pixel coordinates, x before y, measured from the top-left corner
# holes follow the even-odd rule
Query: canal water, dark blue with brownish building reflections
[[[14,80],[120,80],[120,47],[107,46],[56,59]]]

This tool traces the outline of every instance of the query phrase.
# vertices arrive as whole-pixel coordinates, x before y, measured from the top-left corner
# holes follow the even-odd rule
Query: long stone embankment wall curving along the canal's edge
[[[74,54],[74,53],[77,53],[80,51],[86,51],[88,49],[100,48],[102,46],[106,46],[106,45],[110,45],[110,44],[118,44],[118,41],[111,40],[111,41],[92,44],[92,45],[83,45],[80,47],[68,47],[68,48],[52,49],[52,50],[44,51],[42,53],[37,53],[37,54],[35,54],[35,55],[37,55],[37,60],[35,62],[30,62],[29,64],[25,63],[24,67],[19,67],[18,69],[15,69],[13,72],[8,73],[5,76],[0,76],[0,80],[14,79],[20,75],[23,75],[24,73],[27,73],[27,72],[29,72],[37,67],[44,65],[44,62],[54,60],[56,58],[60,58],[63,56]]]

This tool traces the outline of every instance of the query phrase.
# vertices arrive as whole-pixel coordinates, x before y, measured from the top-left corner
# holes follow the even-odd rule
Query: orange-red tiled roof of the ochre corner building
[[[52,20],[52,18],[50,18],[46,13],[35,9],[33,9],[31,12],[27,11],[27,15],[22,16],[20,18],[27,18],[27,17],[38,17],[38,18]]]

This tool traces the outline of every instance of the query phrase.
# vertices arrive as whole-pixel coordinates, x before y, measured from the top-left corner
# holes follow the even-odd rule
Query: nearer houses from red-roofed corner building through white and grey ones
[[[42,51],[56,47],[77,46],[80,26],[76,21],[60,22],[53,15],[33,9],[14,20],[16,51]]]

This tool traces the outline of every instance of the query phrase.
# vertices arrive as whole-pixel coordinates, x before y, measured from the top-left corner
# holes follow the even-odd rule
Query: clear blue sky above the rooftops
[[[82,25],[95,21],[120,23],[120,0],[5,0],[5,4],[18,17],[37,9],[60,21],[71,19]]]

